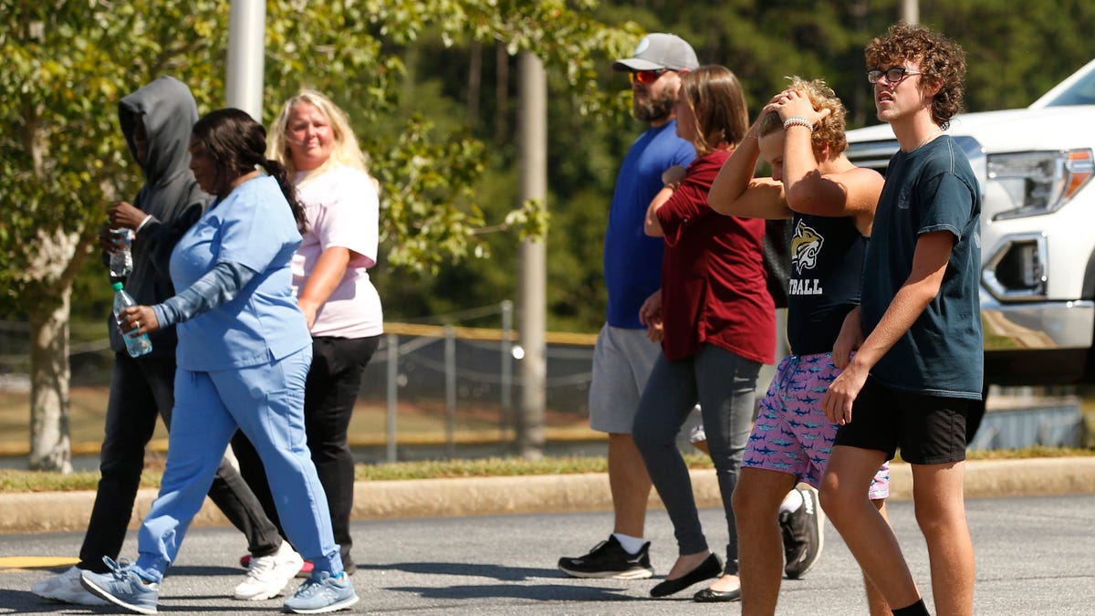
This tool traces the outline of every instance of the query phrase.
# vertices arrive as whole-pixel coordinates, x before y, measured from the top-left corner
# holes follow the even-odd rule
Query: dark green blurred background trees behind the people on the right
[[[1024,106],[1095,56],[1095,3],[1084,0],[1015,3],[1007,0],[921,0],[920,21],[945,32],[967,52],[968,111]],[[634,21],[647,32],[672,32],[690,41],[701,64],[721,64],[734,70],[746,89],[752,113],[786,84],[786,77],[823,78],[848,105],[850,127],[876,124],[871,85],[865,79],[863,48],[900,18],[898,0],[729,0],[602,1],[593,15],[604,23]],[[636,37],[637,41],[637,37]],[[423,39],[412,72],[430,80],[454,104],[466,100],[471,52],[431,49],[441,44]],[[606,58],[610,60],[611,58]],[[612,73],[609,61],[599,70],[599,85],[616,103],[614,117],[584,116],[567,96],[549,102],[549,327],[596,331],[603,321],[604,289],[601,249],[607,210],[620,161],[643,126],[626,114],[626,80]],[[496,75],[484,65],[482,78]],[[438,84],[440,88],[438,89]],[[552,92],[560,92],[553,76]],[[479,115],[457,110],[472,135],[489,141],[497,112],[483,98]],[[469,113],[471,113],[469,111]],[[514,152],[503,145],[491,149],[492,164],[479,189],[493,203],[511,203],[516,194],[507,170]],[[489,189],[485,186],[489,185]],[[508,187],[507,187],[508,186]],[[508,196],[507,196],[508,195]],[[517,247],[502,237],[491,240],[492,261],[465,261],[448,266],[438,277],[391,284],[383,272],[381,293],[397,296],[385,310],[393,318],[419,318],[486,306],[514,297]],[[500,271],[499,271],[500,270]],[[406,289],[410,293],[403,293]],[[406,301],[403,301],[406,299]]]

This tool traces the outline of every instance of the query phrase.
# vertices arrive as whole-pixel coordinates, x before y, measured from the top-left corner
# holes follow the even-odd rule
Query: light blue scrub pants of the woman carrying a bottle
[[[160,495],[138,534],[136,569],[160,582],[205,500],[237,429],[258,450],[289,540],[316,571],[343,570],[327,500],[304,435],[312,349],[268,364],[175,375],[175,409]]]

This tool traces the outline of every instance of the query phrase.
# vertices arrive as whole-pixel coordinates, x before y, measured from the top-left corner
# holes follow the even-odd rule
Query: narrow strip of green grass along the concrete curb
[[[1095,449],[1073,447],[1028,447],[1026,449],[973,450],[969,459],[1019,459],[1065,456],[1095,456]],[[687,454],[690,468],[712,468],[711,458],[704,454]],[[159,488],[162,463],[150,464],[141,476],[141,487]],[[452,459],[436,461],[407,461],[379,465],[359,464],[358,481],[394,481],[403,479],[448,479],[458,477],[519,477],[528,475],[574,475],[606,472],[608,460],[603,457],[556,457],[539,460],[523,458]],[[58,492],[94,490],[99,472],[44,472],[28,470],[0,470],[0,493]]]

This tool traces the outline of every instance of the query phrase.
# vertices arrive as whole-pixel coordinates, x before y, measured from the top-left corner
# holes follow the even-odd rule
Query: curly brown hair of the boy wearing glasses
[[[946,128],[950,118],[963,111],[966,79],[966,52],[938,32],[922,25],[896,23],[884,36],[867,43],[864,50],[867,68],[894,66],[902,60],[920,64],[920,83],[938,85],[932,99],[932,121]]]

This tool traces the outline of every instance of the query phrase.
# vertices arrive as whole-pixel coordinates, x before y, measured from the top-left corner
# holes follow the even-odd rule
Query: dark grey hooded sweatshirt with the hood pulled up
[[[191,130],[198,119],[189,88],[172,77],[161,77],[118,102],[118,123],[129,151],[145,172],[145,185],[132,204],[152,216],[132,242],[134,271],[126,277],[126,290],[137,304],[151,306],[175,294],[168,267],[171,250],[209,202],[191,172]],[[137,158],[134,126],[143,121],[148,140],[147,160]],[[125,342],[110,318],[111,347],[125,352]],[[146,356],[174,357],[175,328],[150,334],[152,353]]]

